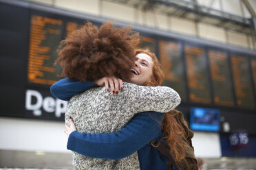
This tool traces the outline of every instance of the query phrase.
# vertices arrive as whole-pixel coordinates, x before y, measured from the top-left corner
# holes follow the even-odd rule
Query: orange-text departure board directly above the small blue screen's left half
[[[185,45],[184,55],[186,60],[189,99],[193,102],[210,104],[211,89],[209,87],[205,49]]]

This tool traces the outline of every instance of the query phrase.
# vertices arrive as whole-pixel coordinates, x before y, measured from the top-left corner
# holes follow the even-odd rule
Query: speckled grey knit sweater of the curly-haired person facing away
[[[138,112],[168,112],[180,104],[180,96],[172,88],[137,86],[124,83],[118,95],[105,87],[91,88],[70,99],[65,123],[72,117],[77,132],[110,133],[124,127]],[[120,160],[89,158],[73,152],[76,169],[140,169],[137,151]]]

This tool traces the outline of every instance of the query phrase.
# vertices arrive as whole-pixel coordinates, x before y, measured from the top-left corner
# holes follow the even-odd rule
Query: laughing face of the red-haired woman
[[[136,55],[136,60],[134,68],[131,69],[132,77],[131,83],[137,85],[144,85],[150,82],[153,74],[153,60],[151,56],[146,53],[139,53]]]

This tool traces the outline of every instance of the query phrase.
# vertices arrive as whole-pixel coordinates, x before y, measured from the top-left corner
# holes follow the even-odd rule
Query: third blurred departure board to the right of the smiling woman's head
[[[223,106],[234,106],[231,69],[228,66],[227,53],[209,50],[208,56],[214,103]]]

